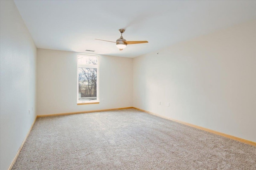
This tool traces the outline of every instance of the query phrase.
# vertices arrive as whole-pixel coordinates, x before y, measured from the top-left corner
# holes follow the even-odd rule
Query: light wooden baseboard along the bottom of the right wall
[[[198,125],[193,125],[191,123],[187,123],[187,122],[184,122],[184,121],[179,121],[179,120],[176,120],[176,119],[172,119],[172,118],[169,118],[169,117],[165,117],[165,116],[161,116],[161,115],[158,115],[158,114],[155,114],[155,113],[152,113],[150,111],[146,111],[146,110],[143,110],[143,109],[139,109],[139,108],[136,108],[136,107],[132,107],[133,109],[137,109],[139,111],[143,111],[143,112],[146,112],[146,113],[149,113],[149,114],[152,114],[152,115],[155,115],[155,116],[158,116],[158,117],[162,117],[164,119],[168,119],[168,120],[171,120],[171,121],[176,121],[178,123],[182,123],[184,125],[188,125],[188,126],[191,126],[191,127],[195,127],[197,129],[201,129],[201,130],[204,130],[204,131],[207,131],[207,132],[210,132],[210,133],[214,133],[216,135],[220,135],[220,136],[223,136],[223,137],[227,137],[229,139],[233,139],[233,140],[236,140],[236,141],[239,141],[239,142],[242,142],[242,143],[246,143],[246,144],[249,144],[249,145],[252,145],[252,146],[255,146],[256,147],[256,142],[252,142],[252,141],[248,141],[246,139],[242,139],[242,138],[239,138],[239,137],[235,137],[235,136],[232,136],[232,135],[228,135],[228,134],[225,134],[225,133],[221,133],[221,132],[218,132],[218,131],[214,131],[214,130],[211,130],[211,129],[207,129],[207,128],[204,128],[204,127],[201,127],[201,126],[198,126]]]

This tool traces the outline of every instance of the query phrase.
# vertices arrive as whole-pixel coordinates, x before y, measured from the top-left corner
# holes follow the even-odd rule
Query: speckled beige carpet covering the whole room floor
[[[135,109],[41,117],[16,170],[256,170],[256,147]]]

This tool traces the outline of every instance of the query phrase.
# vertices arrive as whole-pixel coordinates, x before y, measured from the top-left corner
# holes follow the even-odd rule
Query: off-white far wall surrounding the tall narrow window
[[[131,58],[100,55],[100,104],[77,105],[77,53],[38,49],[37,56],[38,115],[132,106]]]

